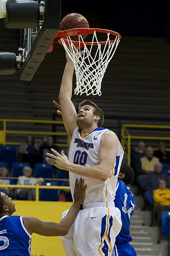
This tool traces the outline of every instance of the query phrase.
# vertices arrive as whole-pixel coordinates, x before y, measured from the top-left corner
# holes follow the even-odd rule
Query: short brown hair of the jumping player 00
[[[93,114],[94,115],[98,115],[100,117],[100,119],[97,122],[97,126],[101,127],[101,125],[103,124],[104,121],[104,114],[103,111],[101,110],[101,108],[99,108],[94,102],[92,102],[90,99],[85,99],[83,101],[81,101],[79,103],[78,109],[81,108],[84,105],[90,105],[93,106],[94,110],[93,110]]]

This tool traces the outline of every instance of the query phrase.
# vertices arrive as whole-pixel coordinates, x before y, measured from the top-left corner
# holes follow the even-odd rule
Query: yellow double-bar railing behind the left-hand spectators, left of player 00
[[[11,131],[7,130],[7,124],[10,122],[29,122],[29,123],[42,123],[42,124],[63,124],[63,121],[49,121],[49,120],[28,120],[28,119],[0,119],[2,122],[2,129],[0,130],[0,144],[2,145],[20,145],[19,142],[9,142],[6,141],[7,134],[31,134],[31,135],[55,135],[55,136],[66,136],[66,144],[56,144],[58,147],[69,147],[69,138],[67,133],[59,132],[35,132],[35,131]]]

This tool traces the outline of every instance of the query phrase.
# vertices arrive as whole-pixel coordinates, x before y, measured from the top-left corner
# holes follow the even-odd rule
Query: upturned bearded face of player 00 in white
[[[95,115],[93,114],[93,107],[90,105],[82,106],[77,114],[77,125],[82,129],[82,126],[89,126],[93,123]]]

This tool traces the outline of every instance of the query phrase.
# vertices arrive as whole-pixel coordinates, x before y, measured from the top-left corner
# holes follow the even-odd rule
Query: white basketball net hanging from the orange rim
[[[96,32],[92,36],[91,45],[85,45],[81,35],[78,36],[78,41],[83,43],[83,47],[78,49],[74,46],[70,37],[65,37],[68,46],[61,38],[62,45],[67,52],[69,58],[72,60],[76,76],[76,88],[74,94],[86,95],[92,94],[101,95],[101,81],[105,70],[120,41],[116,36],[114,42],[110,42],[110,33],[107,33],[105,45],[98,43]],[[93,45],[97,42],[97,45]],[[88,48],[87,48],[88,47]],[[95,53],[92,55],[92,48],[96,47]]]

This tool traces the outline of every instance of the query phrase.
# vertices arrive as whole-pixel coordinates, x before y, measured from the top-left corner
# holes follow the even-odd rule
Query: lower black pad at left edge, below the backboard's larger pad
[[[12,75],[16,72],[16,55],[10,52],[0,52],[0,75]]]

